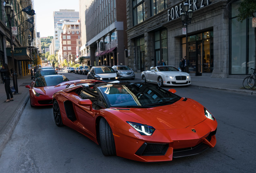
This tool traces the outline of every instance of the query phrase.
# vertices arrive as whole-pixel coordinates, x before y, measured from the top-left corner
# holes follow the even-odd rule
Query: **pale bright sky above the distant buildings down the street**
[[[79,11],[79,0],[34,0],[35,25],[40,37],[54,36],[53,12],[60,9]]]

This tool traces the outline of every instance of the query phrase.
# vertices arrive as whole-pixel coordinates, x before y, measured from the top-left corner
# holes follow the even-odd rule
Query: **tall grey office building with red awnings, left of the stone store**
[[[85,63],[128,64],[126,0],[80,0],[79,11],[81,22],[85,22],[81,23],[81,56],[90,56]]]

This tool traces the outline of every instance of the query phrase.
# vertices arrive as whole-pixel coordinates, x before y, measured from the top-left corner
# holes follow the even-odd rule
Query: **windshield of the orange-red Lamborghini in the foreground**
[[[181,97],[151,84],[107,84],[100,87],[109,107],[156,107],[170,105]]]

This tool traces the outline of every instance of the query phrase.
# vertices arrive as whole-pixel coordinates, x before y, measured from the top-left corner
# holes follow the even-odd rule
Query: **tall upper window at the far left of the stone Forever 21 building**
[[[145,20],[145,2],[144,0],[133,0],[133,25],[139,24]]]

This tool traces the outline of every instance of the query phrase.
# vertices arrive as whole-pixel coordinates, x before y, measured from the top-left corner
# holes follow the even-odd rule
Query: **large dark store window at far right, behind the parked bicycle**
[[[255,68],[255,36],[252,18],[237,21],[240,2],[231,4],[229,74],[251,74]],[[256,13],[254,13],[254,16]]]

